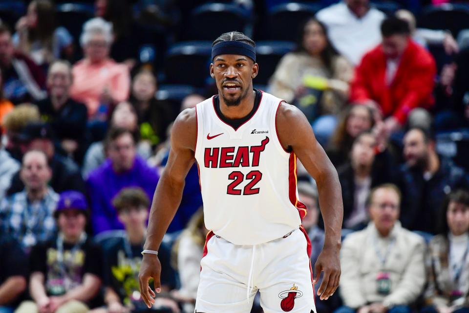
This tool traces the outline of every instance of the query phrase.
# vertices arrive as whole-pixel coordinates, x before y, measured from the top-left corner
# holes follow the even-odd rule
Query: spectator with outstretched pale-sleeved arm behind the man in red
[[[451,32],[416,28],[415,16],[410,11],[404,9],[398,10],[396,17],[409,24],[410,36],[412,36],[412,39],[416,43],[423,47],[427,47],[428,45],[443,45],[448,55],[459,51],[458,43],[454,40]]]

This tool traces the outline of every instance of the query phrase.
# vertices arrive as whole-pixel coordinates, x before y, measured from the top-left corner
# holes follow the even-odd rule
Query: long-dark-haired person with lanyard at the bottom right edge
[[[427,306],[422,313],[469,312],[469,193],[457,190],[446,199],[439,234],[432,238],[426,265]]]

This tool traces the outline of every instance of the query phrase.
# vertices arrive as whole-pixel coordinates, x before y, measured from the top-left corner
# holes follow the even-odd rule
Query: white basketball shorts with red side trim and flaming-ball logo
[[[264,244],[237,246],[207,235],[195,312],[249,313],[257,291],[264,313],[316,312],[303,226]]]

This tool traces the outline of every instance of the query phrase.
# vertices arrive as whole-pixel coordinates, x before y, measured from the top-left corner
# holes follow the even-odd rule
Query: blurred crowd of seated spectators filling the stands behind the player
[[[212,80],[171,85],[161,52],[188,38],[204,1],[82,1],[95,17],[68,28],[61,1],[10,2],[25,12],[0,23],[0,313],[193,312],[208,233],[196,165],[159,250],[151,310],[138,272],[171,124],[216,93]],[[286,1],[221,2],[262,20]],[[417,27],[429,2],[333,2],[297,21],[293,49],[254,80],[306,115],[339,174],[340,292],[318,298],[318,312],[468,313],[469,45]],[[154,29],[165,44],[147,49]],[[190,80],[194,68],[172,70]],[[314,265],[323,222],[299,161],[298,194]]]

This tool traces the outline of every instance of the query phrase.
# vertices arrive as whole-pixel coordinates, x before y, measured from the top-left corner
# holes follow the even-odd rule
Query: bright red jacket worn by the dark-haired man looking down
[[[392,83],[385,81],[386,57],[382,45],[366,53],[355,69],[350,89],[351,102],[376,101],[384,117],[393,115],[403,124],[416,107],[429,108],[434,103],[432,90],[436,65],[425,48],[412,40],[401,57]]]

